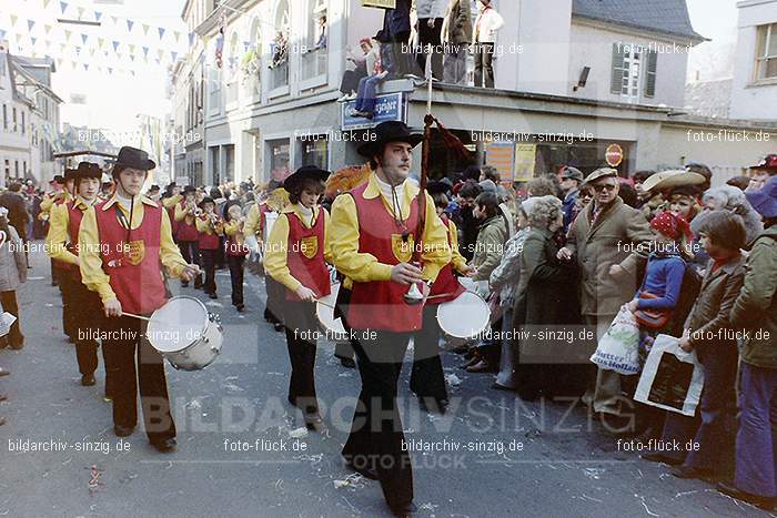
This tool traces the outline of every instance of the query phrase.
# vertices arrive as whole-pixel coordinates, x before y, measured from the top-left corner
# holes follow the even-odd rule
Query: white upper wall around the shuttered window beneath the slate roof
[[[579,19],[573,19],[571,31],[569,53],[569,82],[568,95],[582,99],[597,99],[602,101],[624,102],[625,98],[610,93],[610,80],[613,68],[613,43],[634,44],[654,49],[666,50],[658,53],[656,68],[655,97],[646,98],[645,93],[645,65],[643,63],[643,80],[639,89],[640,104],[666,104],[668,106],[683,106],[685,97],[685,74],[688,67],[687,41],[672,41],[668,39],[637,35],[634,32],[619,32],[610,28],[594,27]],[[677,47],[674,47],[676,43]],[[672,49],[672,52],[668,50]],[[675,52],[677,50],[677,52]],[[591,67],[586,87],[573,91],[574,84],[584,67]]]

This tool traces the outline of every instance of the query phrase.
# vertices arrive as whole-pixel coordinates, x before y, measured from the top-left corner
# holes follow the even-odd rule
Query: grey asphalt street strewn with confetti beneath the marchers
[[[320,342],[316,386],[329,427],[303,436],[285,402],[284,335],[262,318],[261,277],[246,274],[244,314],[230,304],[226,270],[216,276],[218,301],[172,283],[221,315],[224,344],[203,370],[168,365],[179,446],[165,455],[148,444],[142,425],[121,444],[113,435],[102,365],[97,386],[80,385],[59,292],[37,250],[42,244],[33,245],[33,268],[18,292],[27,345],[0,351],[0,366],[11,370],[0,378],[8,396],[0,404],[8,420],[0,427],[0,516],[390,516],[380,485],[349,471],[339,455],[359,373]],[[443,449],[412,454],[418,516],[766,516],[626,451],[579,403],[524,403],[491,389],[493,375],[457,368],[455,354],[443,362],[452,396],[445,416],[418,409],[407,364],[400,387],[407,439]],[[19,451],[36,444],[61,449]]]

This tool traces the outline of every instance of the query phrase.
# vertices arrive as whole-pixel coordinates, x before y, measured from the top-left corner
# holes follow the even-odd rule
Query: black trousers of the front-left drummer
[[[175,437],[175,423],[170,414],[163,358],[145,339],[145,326],[144,321],[129,316],[105,318],[102,346],[112,358],[113,425],[137,426],[140,387],[145,433],[151,443],[160,443]]]

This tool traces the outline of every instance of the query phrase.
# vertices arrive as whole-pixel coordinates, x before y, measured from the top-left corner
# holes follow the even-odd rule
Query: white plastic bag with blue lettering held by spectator
[[[639,326],[625,305],[599,339],[591,360],[605,370],[639,373]]]

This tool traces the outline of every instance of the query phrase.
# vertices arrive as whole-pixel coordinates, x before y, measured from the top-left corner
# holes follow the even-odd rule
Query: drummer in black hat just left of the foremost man
[[[319,333],[315,301],[330,294],[332,262],[329,213],[319,205],[330,172],[306,165],[289,176],[284,186],[292,205],[275,221],[265,246],[264,268],[284,288],[283,319],[292,372],[289,403],[302,410],[305,426],[322,425],[315,396],[315,344]]]

